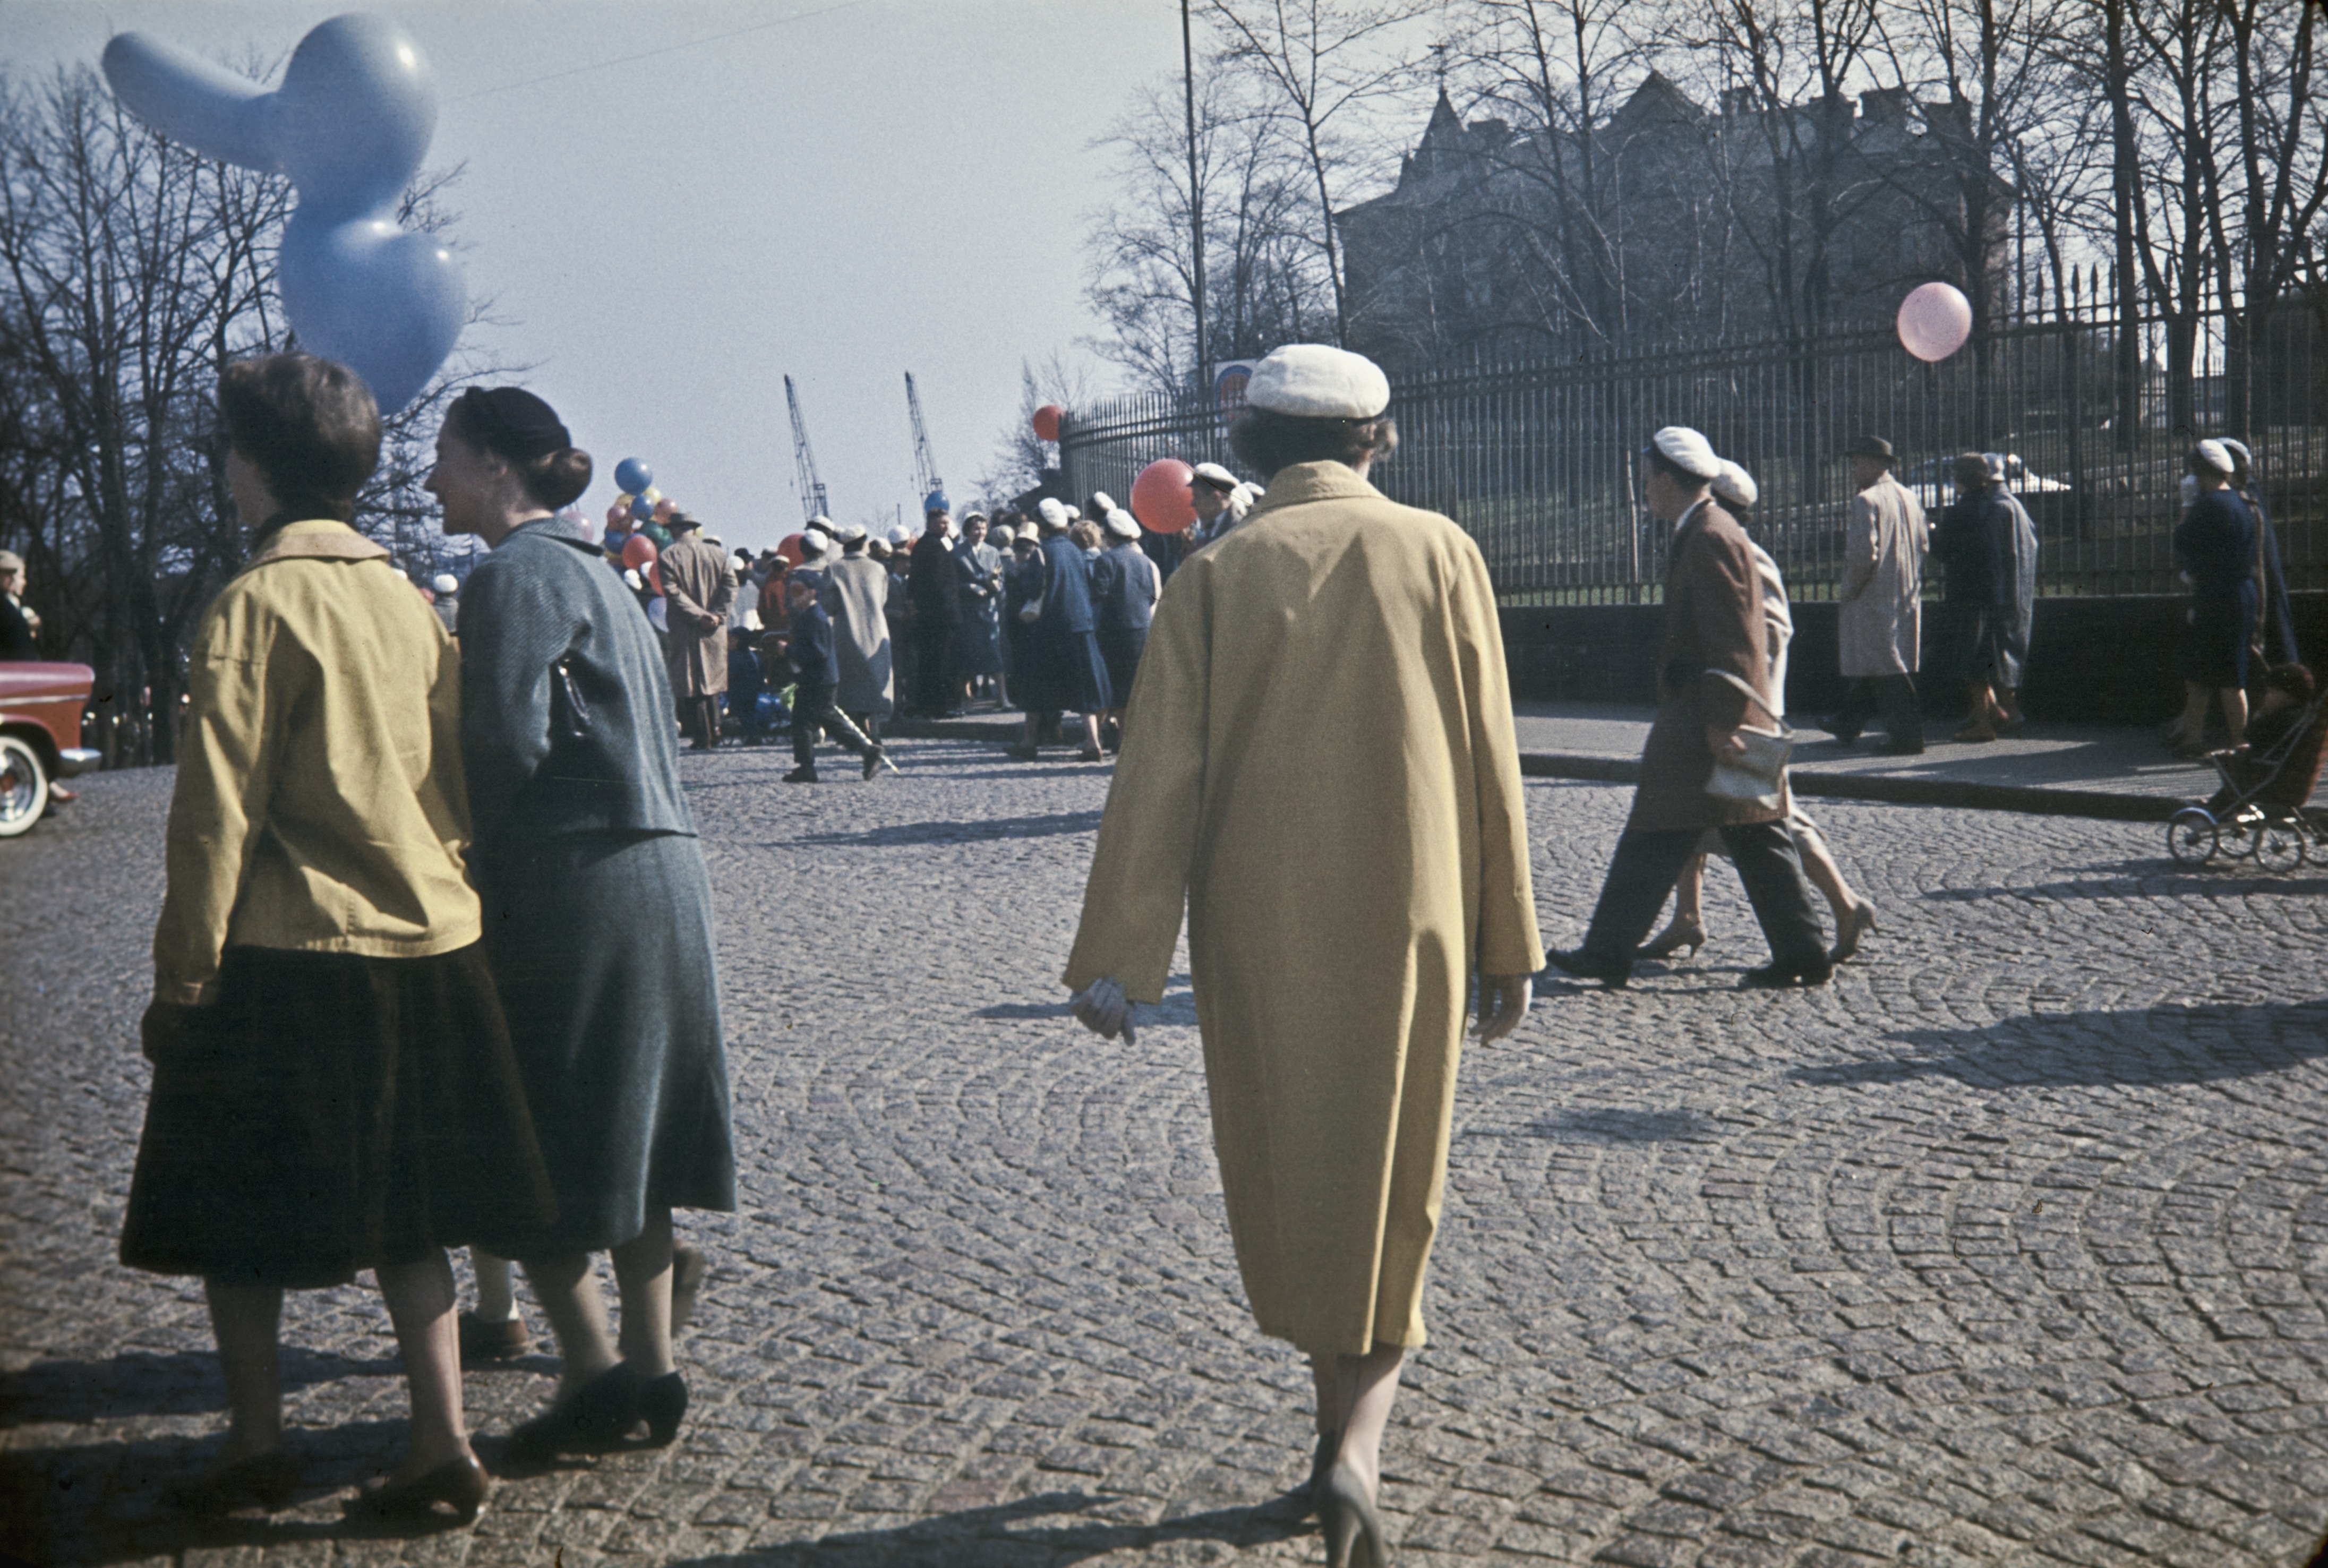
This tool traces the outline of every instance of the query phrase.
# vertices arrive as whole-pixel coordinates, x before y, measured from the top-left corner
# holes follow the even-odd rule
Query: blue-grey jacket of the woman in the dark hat
[[[461,589],[461,768],[480,856],[696,831],[654,628],[554,519],[510,533]]]

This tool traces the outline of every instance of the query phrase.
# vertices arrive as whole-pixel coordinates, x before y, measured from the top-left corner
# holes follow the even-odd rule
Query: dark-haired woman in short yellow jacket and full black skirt
[[[219,407],[254,549],[193,640],[121,1261],[210,1298],[228,1438],[182,1505],[291,1498],[282,1293],[368,1268],[412,1433],[349,1512],[475,1519],[445,1247],[538,1224],[549,1189],[461,861],[459,656],[347,526],[379,463],[363,382],[277,354],[228,365]]]

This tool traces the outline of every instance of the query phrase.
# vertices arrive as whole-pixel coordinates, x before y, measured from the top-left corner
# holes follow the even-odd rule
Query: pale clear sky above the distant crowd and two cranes
[[[0,0],[14,70],[98,60],[116,30],[289,56],[331,0]],[[463,347],[524,382],[729,547],[799,519],[789,372],[833,514],[906,505],[903,372],[938,472],[971,489],[1020,361],[1073,354],[1106,135],[1180,70],[1176,0],[459,0],[368,5],[428,54],[431,163],[473,293]],[[650,54],[661,51],[661,54]],[[633,58],[647,56],[647,58]],[[1099,384],[1115,382],[1113,370]]]

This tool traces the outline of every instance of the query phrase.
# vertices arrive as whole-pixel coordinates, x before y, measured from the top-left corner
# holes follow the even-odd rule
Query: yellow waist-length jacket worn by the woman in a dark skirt
[[[424,958],[482,935],[459,651],[386,554],[347,523],[286,523],[205,612],[156,1000],[214,1000],[230,945]]]

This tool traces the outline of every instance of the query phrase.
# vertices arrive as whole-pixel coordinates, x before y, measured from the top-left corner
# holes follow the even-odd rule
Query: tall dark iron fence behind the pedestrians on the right
[[[2226,323],[2186,323],[2188,365],[2170,375],[2170,323],[2121,316],[2079,291],[2016,314],[1939,365],[1893,330],[1569,361],[1467,363],[1392,377],[1399,449],[1374,472],[1392,498],[1453,516],[1478,542],[1506,603],[1646,603],[1665,575],[1665,526],[1634,496],[1634,454],[1658,426],[1704,430],[1755,475],[1748,523],[1797,598],[1832,598],[1851,496],[1839,458],[1883,435],[1928,509],[1951,498],[1946,461],[2004,451],[2039,530],[2039,591],[2177,593],[2170,535],[2184,456],[2200,435],[2240,435],[2288,582],[2328,586],[2328,395],[2309,309],[2274,316],[2270,351],[2233,354]],[[2121,354],[2121,330],[2132,335]],[[2237,386],[2233,384],[2237,368]],[[2235,398],[2233,391],[2249,395]],[[2226,419],[2244,407],[2244,433]],[[1122,498],[1159,456],[1236,468],[1208,398],[1127,395],[1069,414],[1064,482]]]

